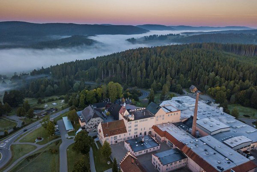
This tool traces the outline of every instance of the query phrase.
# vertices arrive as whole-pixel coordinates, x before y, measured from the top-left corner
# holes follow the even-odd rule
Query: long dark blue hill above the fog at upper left
[[[131,25],[87,25],[74,23],[0,22],[0,43],[31,44],[50,41],[46,37],[102,34],[141,34],[148,30]]]

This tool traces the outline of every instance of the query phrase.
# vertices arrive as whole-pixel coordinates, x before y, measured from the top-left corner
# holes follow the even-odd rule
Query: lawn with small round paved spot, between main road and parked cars
[[[32,131],[31,133],[29,133],[28,135],[26,135],[25,137],[23,137],[20,142],[31,142],[31,143],[35,143],[35,139],[37,137],[43,137],[44,140],[37,142],[37,144],[39,145],[43,145],[45,143],[48,143],[51,140],[54,140],[56,138],[58,138],[59,136],[50,136],[47,133],[47,130],[43,127],[39,127],[37,129],[35,129],[34,131]]]

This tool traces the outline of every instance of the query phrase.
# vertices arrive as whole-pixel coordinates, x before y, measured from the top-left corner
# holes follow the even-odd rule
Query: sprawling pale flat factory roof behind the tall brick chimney
[[[180,119],[190,118],[194,115],[194,105],[195,99],[189,96],[180,96],[173,97],[171,100],[163,101],[161,105],[172,105],[181,110]],[[216,133],[212,135],[217,140],[223,142],[226,139],[236,137],[236,136],[245,136],[251,139],[254,142],[257,142],[257,129],[248,126],[238,120],[233,116],[222,112],[220,109],[209,106],[203,102],[198,102],[198,112],[197,112],[197,121],[202,118],[212,118],[219,122],[220,125],[229,126],[229,131],[224,131],[221,133]],[[222,124],[221,124],[222,123]],[[204,128],[208,128],[210,124],[202,124]]]

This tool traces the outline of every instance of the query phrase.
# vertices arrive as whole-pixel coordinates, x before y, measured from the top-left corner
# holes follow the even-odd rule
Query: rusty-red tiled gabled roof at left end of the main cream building
[[[124,120],[117,120],[113,122],[101,123],[104,137],[112,135],[127,133]]]

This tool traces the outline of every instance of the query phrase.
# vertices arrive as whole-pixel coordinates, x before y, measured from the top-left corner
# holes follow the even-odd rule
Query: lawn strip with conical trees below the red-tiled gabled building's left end
[[[101,146],[101,144],[98,144],[98,146],[99,146],[99,149],[97,150],[96,145],[93,144],[92,149],[93,149],[93,154],[94,154],[94,157],[95,157],[94,158],[95,169],[96,169],[96,171],[100,172],[100,171],[105,171],[105,170],[107,170],[109,168],[112,168],[113,162],[111,161],[110,158],[103,157],[103,155],[101,154],[101,151],[100,151],[102,146]],[[108,165],[107,161],[110,161],[111,164]]]

